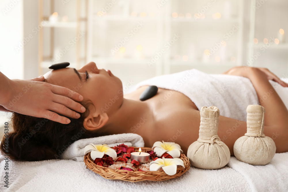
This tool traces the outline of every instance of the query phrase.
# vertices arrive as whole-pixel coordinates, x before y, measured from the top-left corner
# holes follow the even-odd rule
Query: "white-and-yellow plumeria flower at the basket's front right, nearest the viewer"
[[[167,175],[175,175],[177,172],[177,165],[184,167],[182,159],[165,159],[165,157],[163,157],[162,159],[158,158],[155,161],[151,161],[149,164],[149,170],[158,171],[160,168],[162,168]]]

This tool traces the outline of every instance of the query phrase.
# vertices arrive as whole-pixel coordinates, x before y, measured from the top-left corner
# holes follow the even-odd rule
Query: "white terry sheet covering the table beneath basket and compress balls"
[[[5,188],[5,161],[0,156],[0,191],[288,191],[287,159],[288,152],[276,153],[269,164],[252,166],[231,157],[221,169],[191,167],[176,179],[136,183],[105,179],[73,160],[9,161],[9,188]]]

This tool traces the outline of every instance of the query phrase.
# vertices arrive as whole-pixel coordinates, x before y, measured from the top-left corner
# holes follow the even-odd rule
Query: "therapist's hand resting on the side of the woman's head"
[[[83,96],[42,81],[43,76],[31,80],[11,80],[9,100],[3,107],[23,115],[46,118],[63,124],[70,123],[70,120],[57,113],[78,119],[80,114],[75,111],[86,111],[76,102],[82,101]]]

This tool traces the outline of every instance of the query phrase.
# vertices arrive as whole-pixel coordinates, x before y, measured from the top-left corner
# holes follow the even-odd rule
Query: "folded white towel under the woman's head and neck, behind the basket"
[[[93,143],[107,144],[109,147],[114,147],[124,143],[128,147],[144,147],[143,138],[134,133],[123,133],[115,135],[107,135],[101,137],[80,139],[72,143],[66,151],[61,155],[61,159],[72,159],[74,161],[84,161],[84,147]]]

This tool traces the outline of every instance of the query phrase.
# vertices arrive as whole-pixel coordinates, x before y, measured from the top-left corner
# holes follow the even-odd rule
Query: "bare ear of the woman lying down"
[[[90,113],[88,117],[84,119],[83,126],[86,130],[94,131],[103,127],[108,119],[107,113]]]

